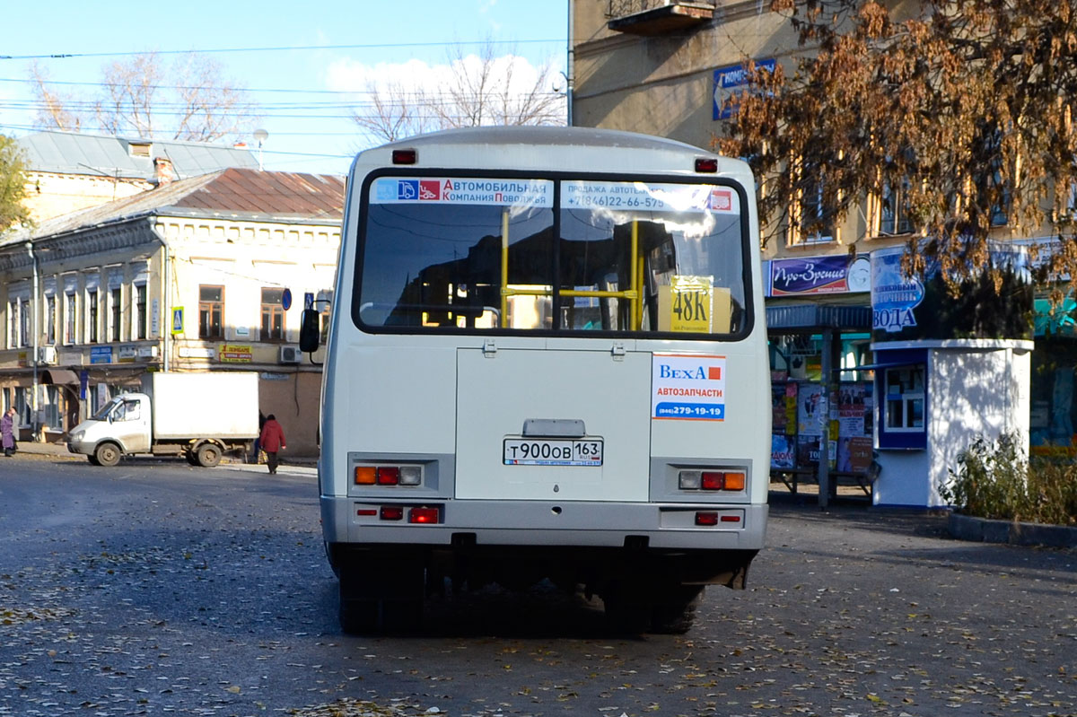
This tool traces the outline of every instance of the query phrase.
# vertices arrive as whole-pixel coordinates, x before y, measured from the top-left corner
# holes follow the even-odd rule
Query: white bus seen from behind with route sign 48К
[[[319,462],[342,629],[415,624],[450,580],[658,632],[743,588],[771,420],[747,166],[479,128],[363,152],[348,187]]]

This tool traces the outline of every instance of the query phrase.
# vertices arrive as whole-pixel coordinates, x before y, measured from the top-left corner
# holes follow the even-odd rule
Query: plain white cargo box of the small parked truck
[[[142,392],[153,410],[153,439],[201,436],[253,440],[258,435],[258,375],[148,374]]]

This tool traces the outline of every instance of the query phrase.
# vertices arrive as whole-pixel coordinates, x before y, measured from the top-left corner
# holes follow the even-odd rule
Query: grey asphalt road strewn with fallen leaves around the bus
[[[1077,552],[772,507],[750,588],[612,637],[536,587],[348,637],[309,472],[0,459],[0,717],[1077,714]]]

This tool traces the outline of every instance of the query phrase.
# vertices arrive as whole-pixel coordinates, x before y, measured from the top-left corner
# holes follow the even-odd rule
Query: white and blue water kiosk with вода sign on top
[[[955,297],[937,275],[905,277],[903,252],[871,254],[873,503],[934,508],[977,437],[1015,434],[1027,452],[1032,290],[1012,253],[993,257],[1008,262],[1001,291],[981,276]]]

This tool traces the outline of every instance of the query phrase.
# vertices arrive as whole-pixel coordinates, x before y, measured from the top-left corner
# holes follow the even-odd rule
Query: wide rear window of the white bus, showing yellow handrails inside
[[[737,335],[741,199],[721,184],[379,177],[365,197],[362,328]]]

